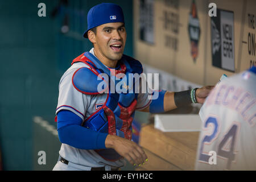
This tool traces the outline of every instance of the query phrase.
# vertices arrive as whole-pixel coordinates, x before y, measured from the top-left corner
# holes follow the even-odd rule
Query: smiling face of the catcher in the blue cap
[[[88,38],[94,46],[94,53],[105,63],[117,62],[121,59],[125,49],[126,36],[125,24],[121,22],[102,24],[97,27],[96,34],[88,31]]]

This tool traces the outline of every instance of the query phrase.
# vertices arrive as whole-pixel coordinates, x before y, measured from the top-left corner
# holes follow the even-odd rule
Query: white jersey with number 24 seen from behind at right
[[[200,117],[196,170],[256,170],[255,73],[245,71],[217,84]]]

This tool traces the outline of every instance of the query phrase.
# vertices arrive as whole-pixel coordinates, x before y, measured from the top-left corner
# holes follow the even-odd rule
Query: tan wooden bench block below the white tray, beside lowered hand
[[[162,132],[152,124],[143,126],[139,144],[148,162],[137,170],[193,170],[198,139],[199,132]]]

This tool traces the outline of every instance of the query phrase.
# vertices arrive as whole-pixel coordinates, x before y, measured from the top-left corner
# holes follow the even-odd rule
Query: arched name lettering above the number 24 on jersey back
[[[238,111],[241,117],[253,127],[256,123],[256,98],[242,89],[230,85],[219,85],[213,89],[205,103],[209,105],[220,105]]]

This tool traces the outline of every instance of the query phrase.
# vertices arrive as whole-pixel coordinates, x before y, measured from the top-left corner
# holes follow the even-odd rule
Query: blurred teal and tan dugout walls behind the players
[[[82,37],[86,15],[102,2],[122,7],[124,53],[140,60],[145,73],[160,73],[161,89],[214,85],[224,73],[232,76],[256,65],[254,0],[0,1],[1,169],[51,170],[56,164],[61,144],[54,121],[59,81],[72,60],[92,47]],[[212,2],[217,17],[209,16]],[[46,16],[39,16],[40,3]],[[165,114],[197,114],[199,109],[192,105]],[[138,112],[135,119],[144,126],[154,122],[152,117]],[[195,152],[198,135],[193,136],[193,146],[179,142]],[[193,169],[193,160],[183,165],[147,150],[155,163],[166,164],[163,169]],[[39,151],[46,152],[46,164],[38,163]]]

